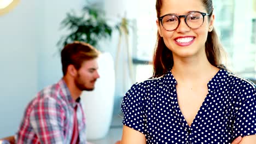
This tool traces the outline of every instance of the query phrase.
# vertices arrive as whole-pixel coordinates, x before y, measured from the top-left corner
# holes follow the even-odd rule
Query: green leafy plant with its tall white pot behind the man
[[[95,5],[85,6],[80,15],[76,15],[74,11],[67,13],[61,22],[61,28],[68,29],[68,34],[61,37],[57,43],[61,48],[78,40],[89,43],[97,49],[99,48],[98,42],[110,38],[114,29],[104,18],[104,11]],[[101,139],[106,136],[112,120],[114,105],[114,61],[110,53],[100,54],[98,67],[100,79],[97,80],[94,91],[84,91],[81,95],[89,140]]]

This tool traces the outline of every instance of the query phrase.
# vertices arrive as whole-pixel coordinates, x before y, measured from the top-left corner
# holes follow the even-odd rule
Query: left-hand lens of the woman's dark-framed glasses
[[[176,15],[166,15],[162,17],[162,27],[167,31],[173,31],[179,25],[179,19]]]

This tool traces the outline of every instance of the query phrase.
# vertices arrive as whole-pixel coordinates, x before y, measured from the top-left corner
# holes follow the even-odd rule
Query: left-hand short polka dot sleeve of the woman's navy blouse
[[[144,112],[144,97],[146,89],[141,83],[135,83],[124,95],[121,110],[124,113],[123,124],[142,134],[146,131],[146,115]]]

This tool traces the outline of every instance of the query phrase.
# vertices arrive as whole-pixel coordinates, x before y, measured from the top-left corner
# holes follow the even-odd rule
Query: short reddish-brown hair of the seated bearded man
[[[83,62],[97,58],[99,53],[95,47],[81,41],[67,44],[61,51],[63,75],[67,73],[68,65],[72,64],[75,69],[79,70]]]

